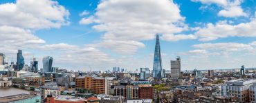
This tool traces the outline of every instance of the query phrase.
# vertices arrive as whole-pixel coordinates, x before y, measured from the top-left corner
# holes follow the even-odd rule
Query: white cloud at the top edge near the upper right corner
[[[243,0],[191,0],[194,2],[201,2],[205,5],[217,4],[223,10],[220,10],[218,16],[224,17],[237,17],[237,16],[247,16],[244,10],[241,8],[241,3]],[[205,5],[202,5],[201,8],[205,8]],[[206,6],[206,8],[208,8]]]

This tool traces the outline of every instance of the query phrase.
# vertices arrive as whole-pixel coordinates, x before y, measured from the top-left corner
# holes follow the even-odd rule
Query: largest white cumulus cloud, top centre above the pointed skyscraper
[[[80,24],[95,23],[93,28],[104,32],[101,45],[114,52],[127,54],[144,47],[140,41],[151,40],[157,33],[163,34],[165,40],[194,38],[185,35],[172,38],[164,36],[187,29],[184,21],[185,18],[181,16],[179,6],[170,0],[105,0],[98,4],[95,14],[82,18]],[[125,48],[127,49],[124,50]]]

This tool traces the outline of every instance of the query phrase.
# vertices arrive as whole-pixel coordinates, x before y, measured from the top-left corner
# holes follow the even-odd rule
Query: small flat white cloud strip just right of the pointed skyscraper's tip
[[[162,36],[162,38],[165,41],[180,41],[187,39],[196,39],[196,36],[194,36],[194,34],[165,34]]]

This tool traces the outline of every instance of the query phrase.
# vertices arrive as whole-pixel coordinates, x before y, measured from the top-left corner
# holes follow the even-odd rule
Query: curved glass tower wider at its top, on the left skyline
[[[53,57],[51,56],[44,56],[43,58],[43,71],[52,72],[52,65],[53,65]]]

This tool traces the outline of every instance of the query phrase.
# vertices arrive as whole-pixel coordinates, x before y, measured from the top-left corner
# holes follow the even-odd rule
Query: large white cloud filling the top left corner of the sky
[[[0,5],[0,25],[27,29],[58,28],[68,24],[68,15],[68,10],[51,0],[17,0]]]

